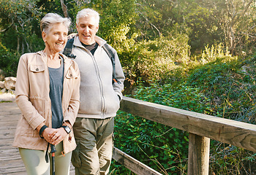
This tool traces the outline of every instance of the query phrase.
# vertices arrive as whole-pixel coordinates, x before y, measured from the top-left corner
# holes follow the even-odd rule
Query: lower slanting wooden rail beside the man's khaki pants
[[[145,164],[141,163],[135,158],[132,158],[131,156],[127,155],[126,153],[122,152],[120,149],[117,149],[116,147],[114,147],[113,149],[113,159],[116,160],[118,163],[121,163],[125,167],[129,168],[129,170],[131,170],[135,174],[160,175],[159,172],[146,166]]]

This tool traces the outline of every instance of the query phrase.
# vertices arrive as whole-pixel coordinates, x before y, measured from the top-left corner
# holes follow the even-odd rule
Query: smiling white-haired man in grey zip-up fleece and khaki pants
[[[114,117],[122,98],[124,73],[116,50],[109,48],[115,58],[113,67],[104,48],[106,41],[96,36],[99,13],[82,9],[76,20],[78,34],[72,41],[72,55],[78,63],[81,82],[80,109],[73,126],[78,146],[72,153],[72,164],[75,174],[108,174]]]

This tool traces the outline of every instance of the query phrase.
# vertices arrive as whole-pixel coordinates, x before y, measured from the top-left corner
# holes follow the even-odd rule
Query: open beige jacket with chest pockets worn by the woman
[[[77,117],[80,95],[80,71],[75,61],[65,55],[62,111],[64,121],[71,125]],[[26,53],[20,57],[16,82],[16,103],[21,111],[15,132],[14,147],[26,149],[47,149],[48,142],[39,137],[36,128],[45,123],[51,127],[50,79],[47,57],[44,52]],[[71,141],[68,141],[72,136]],[[64,153],[75,149],[73,131],[63,141]]]

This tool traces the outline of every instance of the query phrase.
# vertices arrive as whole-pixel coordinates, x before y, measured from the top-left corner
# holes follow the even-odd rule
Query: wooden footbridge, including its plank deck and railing
[[[189,175],[208,175],[210,139],[256,152],[256,125],[189,112],[124,97],[122,111],[189,132]],[[26,174],[18,149],[12,147],[20,111],[15,103],[0,104],[0,174]],[[160,174],[138,160],[114,149],[113,159],[135,174]],[[71,167],[70,174],[75,174]]]

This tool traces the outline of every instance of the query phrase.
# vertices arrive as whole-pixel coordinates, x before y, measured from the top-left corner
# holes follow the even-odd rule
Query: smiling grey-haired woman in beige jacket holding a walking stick
[[[69,174],[76,147],[72,125],[80,104],[78,65],[59,53],[69,25],[68,18],[45,15],[40,22],[45,49],[22,55],[18,64],[15,95],[22,115],[13,146],[28,174],[50,174],[49,144],[56,146],[56,174]]]

